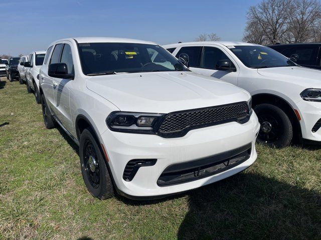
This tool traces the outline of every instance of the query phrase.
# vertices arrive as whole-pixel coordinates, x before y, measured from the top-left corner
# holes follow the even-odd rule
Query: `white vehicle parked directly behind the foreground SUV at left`
[[[41,102],[39,94],[39,70],[45,59],[46,51],[33,51],[28,56],[28,61],[25,62],[25,74],[27,91],[29,93],[35,92],[37,103]]]

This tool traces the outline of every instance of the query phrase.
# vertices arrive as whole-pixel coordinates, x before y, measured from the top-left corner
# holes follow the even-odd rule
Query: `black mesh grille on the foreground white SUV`
[[[247,102],[212,106],[181,112],[173,112],[166,116],[158,129],[160,134],[175,134],[186,132],[204,126],[222,122],[238,121],[249,115]]]

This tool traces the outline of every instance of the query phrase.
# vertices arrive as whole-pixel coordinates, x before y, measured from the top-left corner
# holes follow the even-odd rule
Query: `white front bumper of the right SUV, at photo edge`
[[[302,138],[311,141],[321,141],[321,127],[316,127],[316,123],[321,119],[321,102],[305,101],[302,99],[296,105],[301,116]]]

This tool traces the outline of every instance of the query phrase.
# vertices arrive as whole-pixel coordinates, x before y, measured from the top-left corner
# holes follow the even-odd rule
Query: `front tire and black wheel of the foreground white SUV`
[[[82,131],[79,141],[81,173],[88,191],[100,199],[114,195],[105,159],[91,128]]]

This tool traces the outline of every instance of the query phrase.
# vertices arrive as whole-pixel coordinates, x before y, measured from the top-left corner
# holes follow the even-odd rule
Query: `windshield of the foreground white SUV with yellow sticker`
[[[186,71],[163,47],[141,43],[78,43],[84,74],[120,72]]]

